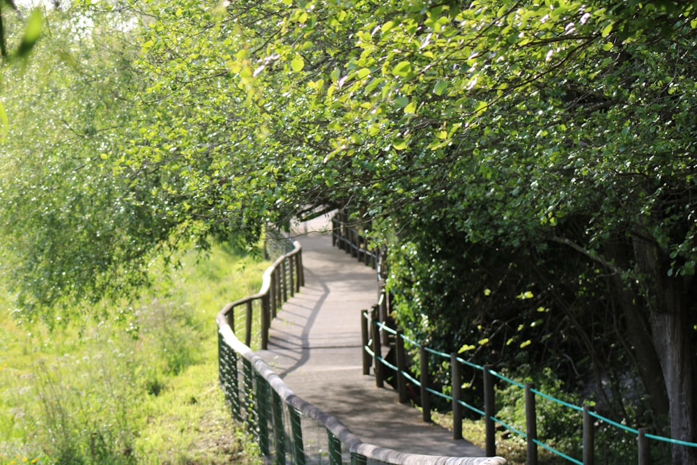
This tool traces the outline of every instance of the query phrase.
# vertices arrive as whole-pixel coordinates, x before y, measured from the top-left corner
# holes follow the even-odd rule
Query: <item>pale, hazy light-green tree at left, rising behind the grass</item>
[[[167,249],[171,221],[144,201],[158,199],[153,176],[132,183],[109,159],[148,114],[129,100],[138,83],[121,18],[52,10],[47,21],[50,38],[4,69],[13,85],[4,89],[0,222],[18,314],[52,322],[52,306],[143,284],[153,249]]]

